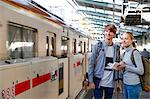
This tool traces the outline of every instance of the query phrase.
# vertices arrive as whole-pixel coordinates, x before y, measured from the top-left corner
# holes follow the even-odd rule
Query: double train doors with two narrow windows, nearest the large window
[[[46,56],[56,56],[56,34],[51,32],[46,36]]]

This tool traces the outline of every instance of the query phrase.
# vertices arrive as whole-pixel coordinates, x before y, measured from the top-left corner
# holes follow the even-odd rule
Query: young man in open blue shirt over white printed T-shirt
[[[104,28],[104,41],[99,41],[92,49],[89,58],[89,87],[94,89],[94,98],[111,99],[114,90],[116,73],[114,65],[119,62],[119,46],[113,43],[117,28],[108,24]],[[117,55],[118,54],[118,55]]]

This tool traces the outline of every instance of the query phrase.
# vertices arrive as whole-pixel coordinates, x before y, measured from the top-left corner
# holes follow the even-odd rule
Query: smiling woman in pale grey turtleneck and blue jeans
[[[123,83],[124,83],[124,98],[125,99],[139,99],[142,92],[139,75],[143,75],[144,68],[140,52],[135,50],[133,34],[126,32],[122,35],[122,46],[125,48],[122,61],[118,65],[123,69]],[[132,54],[133,53],[133,54]],[[135,65],[131,60],[133,55]]]

